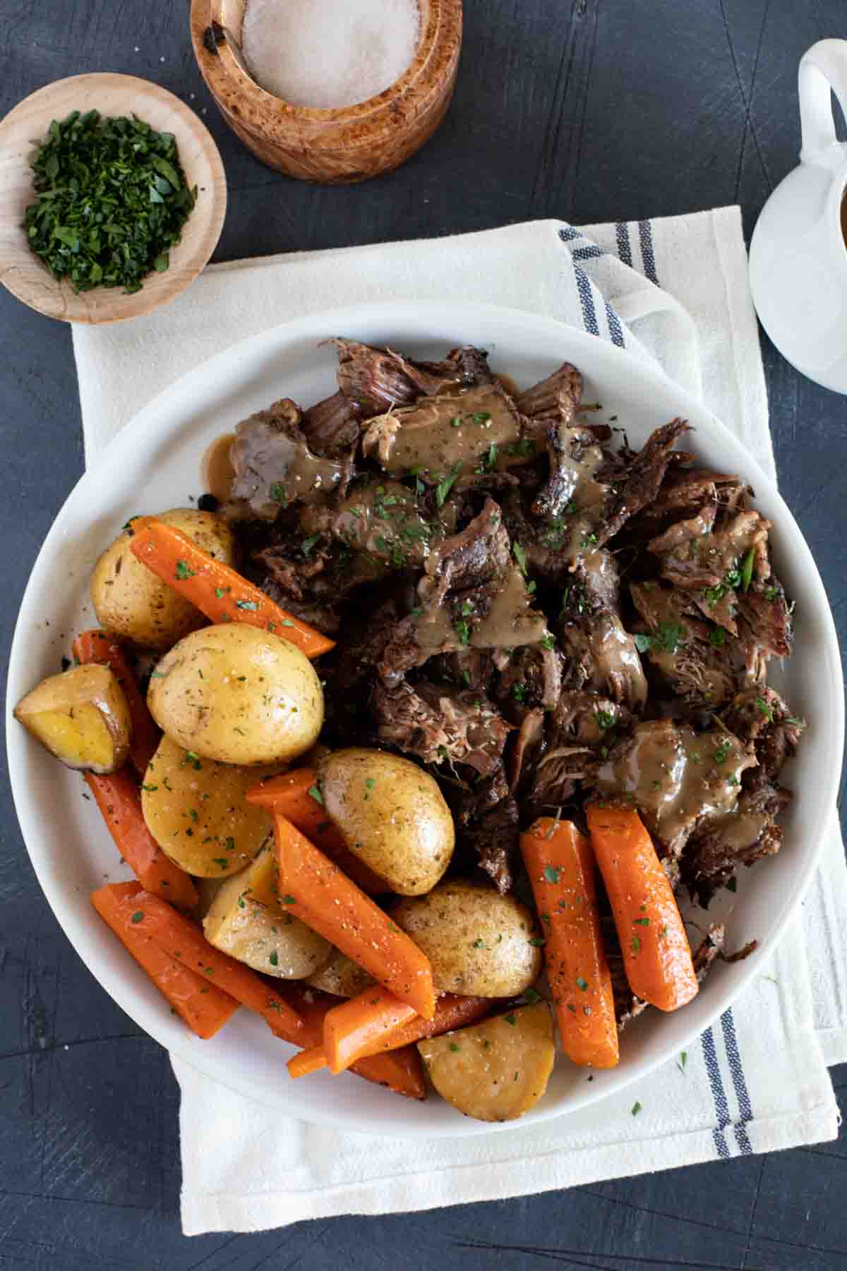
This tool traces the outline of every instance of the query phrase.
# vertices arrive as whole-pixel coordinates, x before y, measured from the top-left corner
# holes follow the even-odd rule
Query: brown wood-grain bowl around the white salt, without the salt
[[[352,184],[399,168],[429,140],[453,95],[461,0],[419,0],[409,69],[377,97],[334,111],[265,93],[240,57],[245,0],[192,0],[192,41],[221,114],[257,159],[301,180]]]

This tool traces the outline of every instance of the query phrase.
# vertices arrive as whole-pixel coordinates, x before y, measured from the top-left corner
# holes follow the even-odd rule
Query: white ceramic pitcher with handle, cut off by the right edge
[[[847,144],[836,137],[830,89],[847,114],[846,39],[822,39],[800,62],[800,167],[762,208],[750,290],[782,356],[810,380],[847,393]]]

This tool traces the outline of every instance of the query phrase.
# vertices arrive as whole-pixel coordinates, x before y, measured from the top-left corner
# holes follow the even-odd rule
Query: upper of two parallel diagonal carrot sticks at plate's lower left
[[[137,919],[137,925],[160,949],[179,958],[183,966],[204,975],[211,984],[216,984],[264,1019],[273,1012],[276,1024],[295,1033],[300,1030],[301,1018],[284,996],[278,990],[269,989],[244,962],[210,944],[190,918],[184,918],[159,896],[145,891],[136,895],[133,904],[136,913],[142,915]]]

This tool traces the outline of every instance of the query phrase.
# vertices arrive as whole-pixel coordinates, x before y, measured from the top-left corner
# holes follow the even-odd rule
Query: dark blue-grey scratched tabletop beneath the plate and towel
[[[230,210],[216,259],[740,201],[745,225],[799,150],[796,64],[847,36],[843,0],[466,0],[455,104],[399,173],[288,182],[229,133],[196,70],[185,0],[0,0],[0,113],[89,70],[149,76],[203,112]],[[484,297],[480,297],[484,299]],[[847,636],[847,403],[763,341],[784,493]],[[4,649],[29,563],[83,468],[70,333],[0,291]],[[0,817],[0,1267],[298,1271],[847,1268],[847,1139],[570,1192],[262,1235],[183,1238],[165,1054],[67,944]],[[834,1074],[847,1098],[847,1066]],[[843,1106],[843,1103],[842,1103]]]

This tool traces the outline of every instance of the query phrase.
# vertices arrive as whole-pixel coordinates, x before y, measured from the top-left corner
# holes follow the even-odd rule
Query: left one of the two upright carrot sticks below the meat
[[[542,816],[521,835],[521,854],[544,923],[563,1050],[574,1064],[615,1068],[615,995],[597,918],[590,843],[571,821]]]

